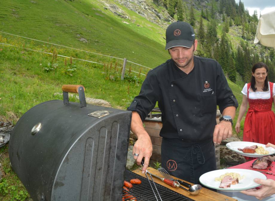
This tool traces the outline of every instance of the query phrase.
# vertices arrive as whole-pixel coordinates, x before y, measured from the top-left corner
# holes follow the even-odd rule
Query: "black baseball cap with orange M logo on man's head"
[[[194,40],[194,29],[189,23],[183,21],[173,22],[166,29],[165,49],[177,46],[190,48]]]

